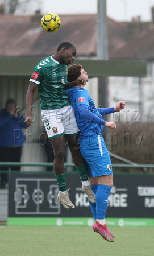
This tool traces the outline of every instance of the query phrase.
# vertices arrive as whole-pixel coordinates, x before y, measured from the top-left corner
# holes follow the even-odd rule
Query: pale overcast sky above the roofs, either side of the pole
[[[154,0],[106,0],[107,16],[115,20],[131,20],[141,16],[142,21],[151,20]],[[97,0],[42,0],[41,12],[60,14],[97,13]]]

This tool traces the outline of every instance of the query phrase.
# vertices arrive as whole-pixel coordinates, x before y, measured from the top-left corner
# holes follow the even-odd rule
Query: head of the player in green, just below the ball
[[[60,63],[68,65],[73,62],[77,51],[73,44],[69,42],[63,42],[58,46],[56,53],[60,57]]]

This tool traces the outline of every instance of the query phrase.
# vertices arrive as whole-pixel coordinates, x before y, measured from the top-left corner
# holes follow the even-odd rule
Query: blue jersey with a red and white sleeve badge
[[[102,124],[88,122],[85,118],[82,118],[78,112],[78,106],[80,104],[85,104],[88,106],[90,112],[97,115],[97,117],[102,118],[102,115],[95,107],[93,99],[89,96],[88,90],[80,87],[73,87],[68,89],[66,93],[72,102],[72,107],[76,115],[77,125],[80,129],[80,138],[101,134],[101,131],[104,127]]]

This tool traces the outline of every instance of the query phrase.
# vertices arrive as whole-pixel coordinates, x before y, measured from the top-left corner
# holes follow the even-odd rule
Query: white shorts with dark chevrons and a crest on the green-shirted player
[[[41,110],[41,116],[49,139],[79,132],[72,106],[55,110]]]

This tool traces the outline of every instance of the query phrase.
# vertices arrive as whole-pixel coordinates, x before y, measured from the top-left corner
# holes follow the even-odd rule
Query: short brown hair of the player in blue
[[[82,66],[74,64],[68,67],[68,82],[76,81],[81,75]]]

